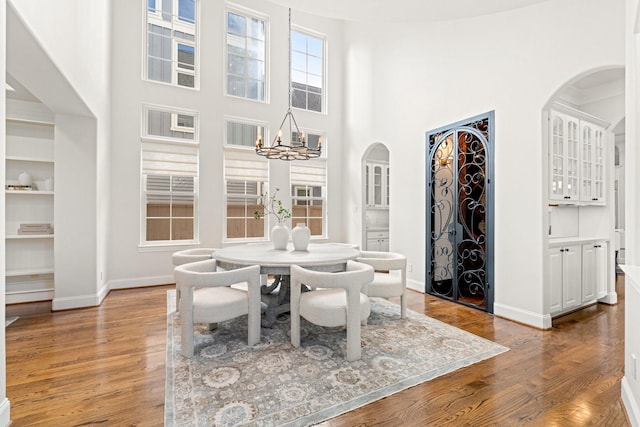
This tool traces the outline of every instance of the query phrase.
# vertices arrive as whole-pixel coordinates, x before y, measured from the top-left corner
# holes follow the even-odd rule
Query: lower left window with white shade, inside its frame
[[[198,241],[198,116],[144,107],[142,245]]]

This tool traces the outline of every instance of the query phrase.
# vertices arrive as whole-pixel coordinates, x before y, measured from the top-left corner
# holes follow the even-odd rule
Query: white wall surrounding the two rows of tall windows
[[[267,73],[269,102],[258,103],[223,95],[225,2],[201,1],[200,89],[172,87],[144,81],[144,2],[114,2],[113,19],[113,170],[111,192],[112,238],[109,249],[111,288],[173,283],[171,254],[183,247],[141,249],[140,133],[142,105],[156,104],[196,110],[200,114],[200,243],[223,243],[223,124],[225,115],[264,120],[276,132],[288,106],[288,10],[261,0],[235,1],[269,20]],[[294,26],[325,34],[329,51],[328,114],[294,112],[302,129],[324,131],[323,149],[329,153],[329,240],[343,238],[342,136],[342,23],[293,11]],[[359,163],[358,163],[359,164]],[[289,163],[271,161],[271,182],[288,193]]]

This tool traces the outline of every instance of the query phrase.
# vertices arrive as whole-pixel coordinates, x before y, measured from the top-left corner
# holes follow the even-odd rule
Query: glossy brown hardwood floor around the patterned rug
[[[100,307],[37,313],[6,330],[12,426],[160,426],[166,291],[112,291]],[[510,348],[489,360],[329,420],[342,426],[628,426],[624,277],[619,303],[597,304],[541,331],[411,292],[409,308]]]

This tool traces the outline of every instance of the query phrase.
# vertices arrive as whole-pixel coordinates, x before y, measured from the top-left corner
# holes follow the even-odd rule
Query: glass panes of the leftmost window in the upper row
[[[148,80],[197,87],[199,0],[147,0]]]

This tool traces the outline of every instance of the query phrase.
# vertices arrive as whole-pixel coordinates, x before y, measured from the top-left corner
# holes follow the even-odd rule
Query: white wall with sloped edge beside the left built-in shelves
[[[56,153],[64,158],[57,159],[55,170],[55,220],[85,227],[82,236],[72,228],[66,228],[69,234],[64,228],[56,230],[56,269],[60,266],[61,275],[56,274],[54,309],[85,306],[87,295],[96,301],[105,289],[101,272],[106,270],[109,236],[110,7],[109,1],[82,0],[14,0],[8,7],[7,71],[59,115],[66,128],[62,135],[77,138],[64,141],[77,149],[65,150],[62,144]],[[72,189],[58,185],[63,182],[81,182],[81,191],[65,198],[64,192]],[[67,251],[86,274],[67,280],[72,275],[64,270],[70,266],[61,264],[63,255],[70,256]]]

